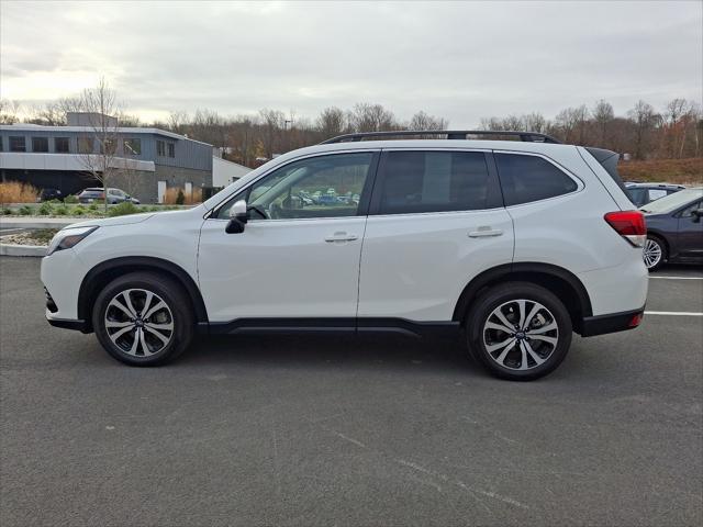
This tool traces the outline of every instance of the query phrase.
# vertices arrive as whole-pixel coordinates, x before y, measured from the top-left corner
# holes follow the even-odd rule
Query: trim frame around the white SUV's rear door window
[[[387,153],[391,153],[391,152],[448,152],[451,154],[457,154],[457,153],[467,153],[467,154],[472,154],[472,153],[477,153],[477,154],[483,154],[484,159],[486,159],[486,168],[488,170],[488,176],[489,176],[489,181],[491,186],[494,186],[493,191],[496,192],[496,199],[495,199],[495,206],[490,206],[488,209],[468,209],[468,210],[458,210],[458,211],[427,211],[427,212],[386,212],[386,213],[381,213],[380,209],[381,209],[381,189],[382,189],[382,184],[383,184],[383,178],[384,178],[384,173],[382,171],[383,169],[383,165],[386,162],[386,159],[388,159],[388,156],[386,156]],[[391,147],[391,148],[383,148],[381,152],[381,161],[379,162],[378,169],[377,169],[377,177],[375,187],[373,187],[373,193],[371,195],[371,205],[369,208],[369,216],[378,216],[378,217],[393,217],[393,216],[419,216],[419,215],[427,215],[427,214],[467,214],[467,213],[477,213],[477,212],[484,212],[484,211],[495,211],[498,209],[502,209],[504,206],[504,202],[503,202],[503,192],[500,186],[500,181],[498,178],[498,170],[495,169],[495,165],[493,161],[493,155],[492,152],[488,148],[466,148],[466,147],[459,147],[459,148],[447,148],[447,147],[428,147],[428,148],[423,148],[423,147],[419,147],[419,146],[413,146],[413,147]]]

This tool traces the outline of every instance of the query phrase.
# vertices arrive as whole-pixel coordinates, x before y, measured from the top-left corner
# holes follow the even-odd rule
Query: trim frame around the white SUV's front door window
[[[359,206],[357,209],[357,213],[354,216],[286,217],[286,218],[278,218],[278,220],[266,220],[266,222],[267,223],[268,222],[299,222],[299,221],[311,222],[316,220],[349,220],[350,217],[366,217],[369,215],[369,205],[371,202],[371,194],[373,191],[376,177],[378,175],[378,166],[379,166],[379,159],[381,157],[381,148],[359,148],[359,149],[348,149],[348,150],[316,152],[314,154],[310,154],[306,156],[294,157],[292,159],[289,159],[286,162],[271,167],[270,170],[267,170],[266,172],[261,173],[255,180],[249,181],[248,184],[246,184],[246,187],[237,189],[236,192],[233,192],[230,195],[227,195],[220,203],[213,206],[212,210],[204,215],[204,218],[215,220],[220,222],[228,222],[230,220],[226,217],[216,217],[217,214],[220,214],[220,210],[222,208],[226,206],[226,204],[230,203],[230,201],[243,194],[247,194],[248,197],[248,193],[252,190],[252,187],[254,187],[258,181],[270,176],[271,173],[274,173],[275,171],[281,168],[287,167],[288,165],[302,161],[303,159],[312,159],[315,157],[327,157],[327,156],[336,156],[336,155],[344,155],[344,154],[348,155],[348,154],[364,154],[364,153],[371,154],[371,162],[369,164],[369,173],[366,177],[366,181],[364,182],[364,189],[361,189],[361,194],[359,195]]]

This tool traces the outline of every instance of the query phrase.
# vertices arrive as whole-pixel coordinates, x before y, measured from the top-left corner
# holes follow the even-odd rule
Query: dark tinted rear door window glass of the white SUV
[[[498,189],[480,152],[389,152],[380,176],[380,214],[496,206]]]

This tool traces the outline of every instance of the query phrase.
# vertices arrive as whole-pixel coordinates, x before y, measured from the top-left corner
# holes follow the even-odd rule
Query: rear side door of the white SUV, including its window
[[[464,287],[513,257],[490,154],[383,150],[361,251],[364,318],[447,322]]]

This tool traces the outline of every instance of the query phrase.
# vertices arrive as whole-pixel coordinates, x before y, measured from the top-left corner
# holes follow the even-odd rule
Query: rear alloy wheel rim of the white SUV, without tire
[[[559,327],[551,312],[533,300],[511,300],[495,307],[483,325],[489,357],[503,368],[531,370],[557,348]]]

